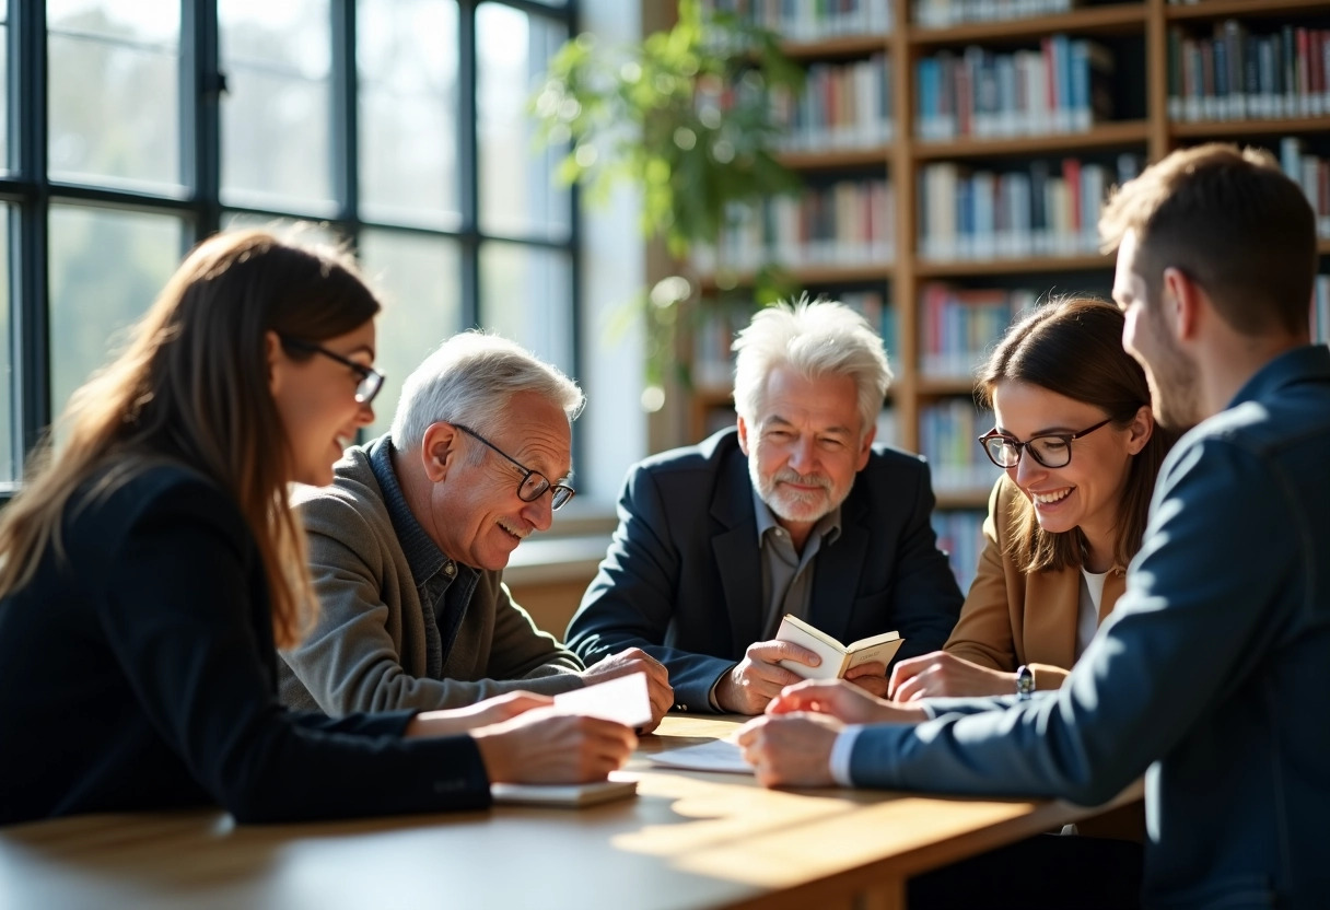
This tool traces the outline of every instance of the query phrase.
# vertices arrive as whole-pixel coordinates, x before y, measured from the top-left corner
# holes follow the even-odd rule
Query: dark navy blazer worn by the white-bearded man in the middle
[[[960,589],[930,524],[928,466],[875,448],[817,555],[810,621],[850,643],[898,629],[899,657],[936,651]],[[618,528],[568,625],[592,664],[638,647],[669,668],[677,710],[710,710],[712,685],[759,641],[766,619],[747,458],[725,430],[628,472]]]

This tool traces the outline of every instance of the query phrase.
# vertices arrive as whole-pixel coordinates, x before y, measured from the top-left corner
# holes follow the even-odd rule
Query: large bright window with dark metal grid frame
[[[568,0],[0,0],[0,484],[219,229],[317,222],[382,293],[387,430],[446,337],[576,375],[573,198],[525,100]]]

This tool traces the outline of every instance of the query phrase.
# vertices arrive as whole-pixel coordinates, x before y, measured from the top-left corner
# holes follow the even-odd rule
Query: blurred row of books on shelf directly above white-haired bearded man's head
[[[896,204],[887,180],[807,186],[757,206],[732,206],[716,249],[698,247],[704,271],[739,271],[778,262],[786,267],[882,265],[895,250]]]

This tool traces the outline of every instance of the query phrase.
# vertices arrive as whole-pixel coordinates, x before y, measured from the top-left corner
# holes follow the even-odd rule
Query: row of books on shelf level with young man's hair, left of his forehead
[[[1113,184],[1140,173],[1141,157],[1117,156],[1116,169],[1063,158],[1005,173],[955,162],[919,173],[919,251],[927,259],[1079,255],[1099,250],[1099,213]]]

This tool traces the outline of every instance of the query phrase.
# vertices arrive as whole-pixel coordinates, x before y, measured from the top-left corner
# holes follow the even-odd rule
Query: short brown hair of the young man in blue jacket
[[[1176,267],[1240,333],[1307,333],[1315,213],[1269,152],[1218,142],[1178,149],[1113,193],[1099,231],[1105,250],[1136,234],[1150,299]]]

